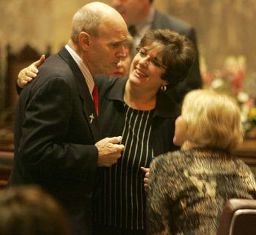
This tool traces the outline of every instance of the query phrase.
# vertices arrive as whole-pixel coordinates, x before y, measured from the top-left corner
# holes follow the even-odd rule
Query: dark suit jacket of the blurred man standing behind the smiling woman
[[[197,56],[188,77],[186,77],[184,82],[170,89],[170,93],[173,93],[173,98],[180,103],[188,91],[202,87],[195,30],[183,20],[165,15],[157,10],[155,11],[154,20],[150,29],[170,29],[187,36],[195,44]]]

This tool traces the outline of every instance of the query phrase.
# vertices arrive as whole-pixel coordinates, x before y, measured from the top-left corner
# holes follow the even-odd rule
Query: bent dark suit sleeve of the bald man
[[[31,174],[83,179],[95,174],[97,148],[67,141],[72,95],[70,85],[60,78],[47,80],[31,95],[19,145],[22,163]]]

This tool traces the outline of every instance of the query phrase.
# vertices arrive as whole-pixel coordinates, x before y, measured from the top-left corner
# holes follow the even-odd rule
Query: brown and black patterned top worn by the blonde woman
[[[250,168],[228,153],[191,149],[150,165],[148,234],[216,234],[225,202],[256,198]]]

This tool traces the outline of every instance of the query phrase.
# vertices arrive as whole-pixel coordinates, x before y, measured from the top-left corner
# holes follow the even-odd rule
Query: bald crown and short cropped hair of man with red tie
[[[113,22],[116,26],[126,27],[125,21],[114,8],[105,3],[93,2],[83,6],[76,12],[72,20],[71,39],[78,44],[82,31],[98,36],[100,24]]]

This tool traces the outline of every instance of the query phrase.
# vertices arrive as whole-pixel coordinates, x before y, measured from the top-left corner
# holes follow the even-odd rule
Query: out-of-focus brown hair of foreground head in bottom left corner
[[[69,235],[67,215],[39,186],[13,186],[0,194],[1,235]]]

